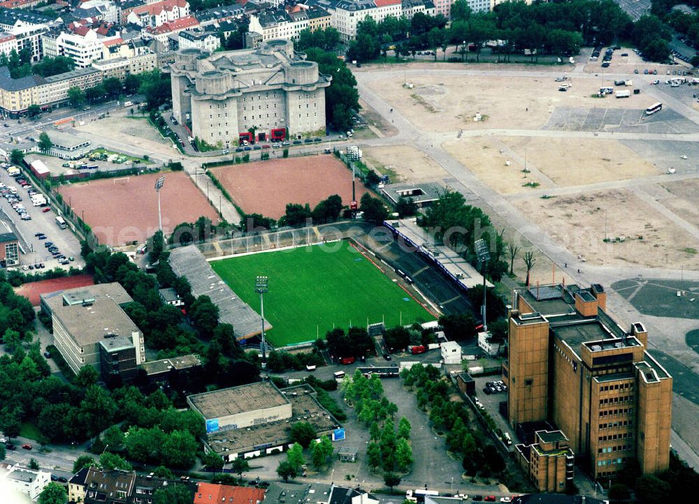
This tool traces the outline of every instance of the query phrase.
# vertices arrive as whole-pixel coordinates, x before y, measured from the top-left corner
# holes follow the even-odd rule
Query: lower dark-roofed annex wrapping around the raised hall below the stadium
[[[309,385],[299,385],[281,390],[291,405],[291,417],[276,422],[252,425],[245,429],[220,429],[207,433],[204,450],[220,455],[224,461],[238,457],[250,459],[264,457],[287,450],[291,446],[291,426],[296,422],[308,422],[316,436],[328,436],[331,440],[345,438],[340,422],[315,399],[315,390]]]

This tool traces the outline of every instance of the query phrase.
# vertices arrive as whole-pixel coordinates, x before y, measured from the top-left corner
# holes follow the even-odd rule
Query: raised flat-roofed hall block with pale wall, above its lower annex
[[[187,396],[187,403],[204,417],[207,432],[291,418],[289,399],[271,382],[194,394]]]

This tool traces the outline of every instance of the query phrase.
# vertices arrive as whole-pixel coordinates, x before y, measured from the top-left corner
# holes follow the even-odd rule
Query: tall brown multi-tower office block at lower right
[[[622,329],[606,304],[598,284],[514,292],[509,421],[553,422],[596,479],[630,459],[656,473],[669,464],[672,376],[648,353],[642,323]]]

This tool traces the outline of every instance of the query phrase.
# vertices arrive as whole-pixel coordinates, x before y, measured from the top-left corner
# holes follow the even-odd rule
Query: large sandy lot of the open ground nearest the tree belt
[[[658,101],[649,94],[628,99],[592,98],[601,80],[570,78],[572,87],[559,91],[550,77],[500,77],[484,75],[412,75],[413,89],[403,87],[405,77],[375,80],[368,85],[381,94],[417,128],[424,131],[523,128],[544,126],[556,107],[647,108]],[[612,85],[605,80],[605,86]],[[629,88],[630,89],[630,88]],[[474,121],[476,113],[484,120]]]

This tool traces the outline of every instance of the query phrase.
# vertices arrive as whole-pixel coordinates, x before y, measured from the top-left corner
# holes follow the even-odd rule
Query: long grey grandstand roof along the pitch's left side
[[[175,249],[170,265],[177,276],[185,276],[192,286],[192,295],[207,295],[219,307],[219,323],[231,324],[236,339],[248,339],[261,332],[260,317],[211,268],[194,245]],[[265,320],[265,330],[272,325]]]

